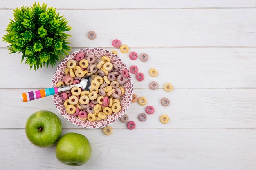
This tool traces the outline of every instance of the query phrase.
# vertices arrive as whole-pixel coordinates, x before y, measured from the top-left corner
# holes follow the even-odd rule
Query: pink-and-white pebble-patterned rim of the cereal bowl
[[[55,75],[57,74],[57,71],[59,71],[61,64],[64,64],[65,62],[67,62],[67,61],[65,61],[67,58],[71,58],[71,57],[74,58],[74,56],[75,56],[77,53],[79,53],[80,51],[83,51],[83,50],[84,50],[84,51],[90,51],[90,50],[97,50],[97,51],[98,51],[98,50],[100,50],[100,51],[105,51],[105,52],[107,51],[108,53],[111,53],[109,50],[106,50],[106,49],[103,49],[103,48],[92,48],[92,47],[83,48],[83,49],[78,49],[78,50],[76,50],[76,51],[70,53],[70,54],[67,55],[67,56],[62,60],[62,62],[57,66],[57,68],[56,68],[56,70],[55,70],[55,72],[54,72],[53,78],[52,78],[52,86],[55,84],[54,77],[55,77]],[[84,52],[84,53],[85,53],[85,52]],[[121,58],[120,58],[118,55],[115,55],[114,53],[111,53],[111,55],[114,55],[115,57],[117,57],[117,59],[118,59],[122,64],[124,64],[124,68],[126,68],[126,69],[129,71],[127,65],[124,63],[123,60],[121,60]],[[101,54],[101,56],[104,56],[104,54]],[[126,110],[128,109],[128,107],[130,106],[131,99],[132,99],[132,95],[133,95],[133,81],[132,81],[132,76],[131,76],[130,71],[129,71],[129,74],[130,74],[130,75],[129,75],[128,77],[129,77],[129,79],[130,79],[130,86],[131,86],[131,87],[130,87],[130,93],[128,93],[130,97],[128,97],[128,98],[130,98],[130,99],[129,99],[128,103],[126,104],[126,108],[124,107],[123,110],[119,111],[119,113],[113,113],[113,114],[115,114],[115,115],[112,114],[112,115],[114,116],[114,117],[113,117],[114,119],[112,119],[111,122],[106,119],[106,122],[105,122],[105,124],[103,124],[103,125],[101,125],[101,123],[99,123],[99,122],[101,122],[101,121],[94,121],[93,123],[95,124],[95,122],[98,122],[98,123],[99,123],[99,124],[98,124],[99,126],[92,126],[92,125],[90,125],[90,126],[82,126],[81,124],[76,124],[76,122],[70,121],[69,119],[67,119],[67,117],[65,117],[65,114],[67,114],[66,111],[64,111],[64,114],[62,114],[63,111],[58,108],[57,103],[56,103],[56,101],[55,101],[56,99],[54,99],[54,97],[56,97],[57,95],[53,95],[53,96],[52,96],[54,105],[55,105],[56,109],[58,110],[58,113],[60,113],[67,121],[69,121],[70,123],[72,123],[72,124],[74,124],[74,125],[76,125],[76,126],[83,127],[83,128],[89,128],[89,129],[103,128],[103,127],[105,127],[105,126],[108,126],[108,125],[114,123],[115,121],[117,121],[118,119],[120,119],[121,116],[124,115],[124,113],[126,112]],[[126,99],[126,100],[127,100],[127,99]],[[62,102],[62,101],[61,101],[61,102]],[[121,107],[122,107],[122,106],[121,106]],[[121,114],[120,114],[120,113],[121,113]],[[68,114],[67,114],[67,115],[68,115]],[[102,120],[102,121],[105,121],[105,119]],[[88,122],[88,120],[87,120],[87,122]]]

